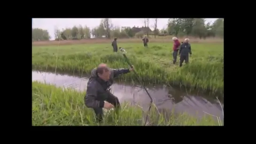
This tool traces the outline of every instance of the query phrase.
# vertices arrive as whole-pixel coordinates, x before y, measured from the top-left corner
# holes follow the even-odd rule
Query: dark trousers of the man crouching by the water
[[[111,103],[112,105],[114,105],[116,109],[116,112],[118,112],[118,110],[120,109],[120,102],[118,100],[118,98],[111,94],[110,92],[107,92],[108,94],[108,99],[106,101],[108,101],[109,103]],[[103,108],[93,108],[95,114],[96,114],[96,121],[97,122],[102,122],[103,121]]]

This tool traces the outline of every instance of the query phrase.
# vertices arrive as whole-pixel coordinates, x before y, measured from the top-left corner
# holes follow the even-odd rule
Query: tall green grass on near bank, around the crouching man
[[[93,110],[84,105],[85,93],[32,82],[32,125],[98,125]],[[141,108],[122,104],[119,116],[109,112],[103,125],[143,125]],[[159,114],[153,107],[149,125],[219,125],[216,118],[205,116],[198,120],[186,114]],[[222,122],[223,124],[223,122]]]

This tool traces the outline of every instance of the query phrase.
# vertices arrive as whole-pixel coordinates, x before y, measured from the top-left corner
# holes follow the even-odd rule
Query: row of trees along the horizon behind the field
[[[152,22],[153,20],[153,22]],[[224,19],[219,18],[213,24],[205,24],[203,18],[170,18],[166,29],[157,29],[158,19],[143,19],[143,27],[116,27],[109,18],[102,19],[99,26],[90,29],[86,25],[74,26],[67,29],[55,29],[55,40],[68,39],[88,39],[88,38],[141,38],[144,35],[156,36],[195,36],[199,38],[206,37],[223,37],[224,36]],[[153,28],[153,30],[150,29]],[[32,40],[49,40],[50,36],[47,30],[32,29]]]

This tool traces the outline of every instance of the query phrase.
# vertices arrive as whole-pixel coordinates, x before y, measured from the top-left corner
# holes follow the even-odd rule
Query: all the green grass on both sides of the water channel
[[[134,40],[135,41],[135,40]],[[140,40],[141,41],[141,40]],[[122,54],[113,53],[109,43],[46,42],[32,44],[32,69],[41,71],[90,73],[100,63],[111,68],[128,68]],[[139,40],[138,40],[139,42]],[[198,91],[223,94],[224,46],[223,43],[193,43],[189,65],[172,64],[172,43],[142,43],[124,40],[118,43],[134,65],[144,84],[186,86]],[[69,45],[65,45],[69,44]],[[179,60],[179,57],[178,57]],[[134,74],[119,77],[120,81],[137,81]],[[84,104],[85,93],[39,82],[32,82],[32,125],[99,125],[92,109]],[[109,111],[102,125],[144,125],[145,112],[140,106],[122,104],[120,115]],[[202,119],[187,114],[164,115],[152,106],[148,125],[223,125],[216,117]]]

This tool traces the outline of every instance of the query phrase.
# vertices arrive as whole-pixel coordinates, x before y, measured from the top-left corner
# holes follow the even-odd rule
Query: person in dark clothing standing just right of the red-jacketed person
[[[190,54],[190,56],[192,55],[191,52],[191,45],[188,43],[189,39],[186,38],[185,42],[181,44],[180,48],[179,48],[179,55],[180,55],[180,61],[179,61],[179,66],[182,66],[182,63],[185,60],[185,63],[188,64],[188,54]]]

